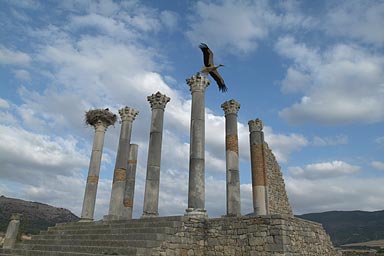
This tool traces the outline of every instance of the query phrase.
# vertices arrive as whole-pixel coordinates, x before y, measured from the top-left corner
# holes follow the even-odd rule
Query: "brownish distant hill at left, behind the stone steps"
[[[15,198],[0,197],[0,232],[5,232],[12,213],[22,213],[24,232],[37,234],[56,223],[78,221],[79,217],[64,208],[28,202]]]

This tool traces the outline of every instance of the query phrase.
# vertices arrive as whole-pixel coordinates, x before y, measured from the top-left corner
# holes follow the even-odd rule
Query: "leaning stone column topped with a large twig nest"
[[[83,208],[80,221],[93,221],[95,212],[97,185],[99,183],[101,156],[103,154],[104,136],[107,127],[116,122],[116,115],[108,109],[90,110],[85,115],[86,124],[95,128],[91,160],[88,169],[87,185],[85,187]]]

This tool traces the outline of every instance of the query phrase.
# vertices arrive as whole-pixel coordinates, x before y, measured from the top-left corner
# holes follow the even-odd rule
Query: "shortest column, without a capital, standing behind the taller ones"
[[[138,148],[139,145],[137,144],[131,144],[129,146],[127,178],[125,180],[123,209],[123,217],[127,219],[132,219]]]

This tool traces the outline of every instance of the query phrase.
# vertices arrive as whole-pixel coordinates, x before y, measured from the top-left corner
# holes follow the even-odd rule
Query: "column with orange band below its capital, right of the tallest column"
[[[239,141],[237,136],[237,113],[240,104],[229,100],[221,104],[225,113],[225,154],[227,176],[227,216],[241,216]]]

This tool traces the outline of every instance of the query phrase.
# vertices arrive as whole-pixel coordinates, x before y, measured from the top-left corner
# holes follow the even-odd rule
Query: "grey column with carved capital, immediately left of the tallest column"
[[[145,181],[143,218],[159,215],[159,185],[161,144],[163,138],[164,109],[170,98],[160,92],[147,97],[151,109],[151,130],[149,135],[147,178]]]

